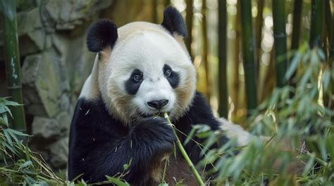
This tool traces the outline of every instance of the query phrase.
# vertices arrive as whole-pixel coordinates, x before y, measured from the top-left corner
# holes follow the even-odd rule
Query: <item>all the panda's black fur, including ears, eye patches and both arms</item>
[[[175,8],[166,9],[162,25],[171,34],[187,34],[183,18]],[[100,52],[106,47],[112,48],[116,40],[116,26],[109,20],[101,20],[90,27],[87,46],[89,51]],[[178,78],[178,74],[174,74],[168,79],[173,88],[178,86]],[[125,86],[132,95],[139,87],[128,82]],[[68,180],[80,176],[89,183],[102,182],[106,180],[105,175],[123,173],[123,165],[130,164],[124,179],[131,185],[156,185],[151,173],[161,165],[161,158],[173,150],[175,137],[165,119],[143,117],[135,122],[134,126],[129,126],[113,117],[101,96],[79,98],[70,126]],[[186,134],[194,124],[207,124],[212,130],[219,129],[210,106],[198,92],[194,93],[187,112],[173,123]],[[181,141],[185,140],[184,135],[179,137]],[[225,142],[228,138],[222,140]],[[194,142],[187,143],[185,150],[194,163],[199,161],[201,150]]]

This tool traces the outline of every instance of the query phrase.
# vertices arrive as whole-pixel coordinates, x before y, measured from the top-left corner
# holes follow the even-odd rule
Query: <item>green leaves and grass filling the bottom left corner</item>
[[[0,98],[0,182],[23,185],[59,184],[58,178],[42,157],[32,152],[23,143],[28,135],[8,128],[8,117],[13,117],[8,106],[18,103]]]

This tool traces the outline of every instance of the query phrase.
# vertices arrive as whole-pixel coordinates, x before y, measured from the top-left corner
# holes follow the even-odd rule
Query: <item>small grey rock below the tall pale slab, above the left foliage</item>
[[[32,121],[32,135],[34,138],[55,140],[61,134],[61,128],[56,119],[34,117]]]

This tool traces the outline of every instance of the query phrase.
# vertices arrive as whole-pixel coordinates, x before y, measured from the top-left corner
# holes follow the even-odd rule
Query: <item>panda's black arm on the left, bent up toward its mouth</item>
[[[144,183],[173,148],[173,132],[164,119],[142,119],[125,131],[101,105],[78,105],[70,131],[69,180],[83,173],[85,181],[101,182],[130,164],[125,180]]]

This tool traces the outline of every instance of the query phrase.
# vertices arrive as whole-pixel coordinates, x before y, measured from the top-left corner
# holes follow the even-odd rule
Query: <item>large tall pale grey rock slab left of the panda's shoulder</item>
[[[52,56],[51,53],[45,52],[25,58],[22,84],[28,114],[41,116],[39,109],[42,109],[42,113],[47,113],[47,117],[54,117],[61,111],[59,107],[63,91],[59,77],[61,71]]]

